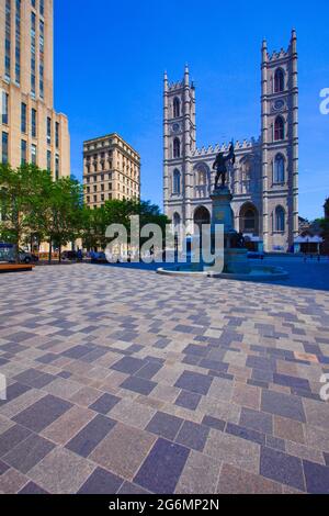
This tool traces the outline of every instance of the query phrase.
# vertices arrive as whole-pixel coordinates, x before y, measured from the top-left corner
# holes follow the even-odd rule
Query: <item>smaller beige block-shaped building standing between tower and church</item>
[[[83,186],[89,207],[112,199],[139,199],[139,154],[116,133],[84,142]]]

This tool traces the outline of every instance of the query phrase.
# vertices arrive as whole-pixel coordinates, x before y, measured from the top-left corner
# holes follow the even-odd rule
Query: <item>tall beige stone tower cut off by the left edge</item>
[[[54,110],[53,0],[0,2],[0,161],[70,175],[66,115]]]

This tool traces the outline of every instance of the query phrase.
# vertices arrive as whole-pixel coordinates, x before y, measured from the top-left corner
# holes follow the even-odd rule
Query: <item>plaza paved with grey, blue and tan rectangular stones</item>
[[[0,289],[0,492],[329,493],[325,290],[87,263]]]

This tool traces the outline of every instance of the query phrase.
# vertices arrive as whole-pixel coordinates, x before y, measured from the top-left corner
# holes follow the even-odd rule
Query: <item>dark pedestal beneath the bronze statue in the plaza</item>
[[[249,273],[251,268],[248,261],[248,251],[238,247],[239,234],[234,225],[234,212],[231,209],[232,194],[228,187],[214,190],[211,195],[213,202],[212,234],[215,234],[215,225],[224,225],[224,272]]]

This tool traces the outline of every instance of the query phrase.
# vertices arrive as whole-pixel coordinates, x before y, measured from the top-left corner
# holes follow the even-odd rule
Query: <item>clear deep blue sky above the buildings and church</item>
[[[299,54],[299,212],[322,215],[329,197],[329,4],[218,0],[55,0],[55,105],[69,116],[71,172],[82,142],[120,133],[141,155],[141,195],[162,205],[162,78],[189,63],[197,146],[260,134],[260,46]]]

